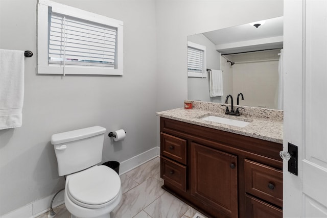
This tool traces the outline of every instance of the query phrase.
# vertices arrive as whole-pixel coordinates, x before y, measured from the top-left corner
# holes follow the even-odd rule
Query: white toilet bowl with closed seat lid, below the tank
[[[121,198],[120,177],[107,166],[92,166],[66,177],[65,206],[72,217],[108,218]]]

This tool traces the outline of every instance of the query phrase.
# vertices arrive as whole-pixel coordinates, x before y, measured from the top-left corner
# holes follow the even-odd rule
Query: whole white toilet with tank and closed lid
[[[66,176],[65,206],[72,217],[110,217],[122,199],[121,180],[101,162],[106,129],[89,127],[54,134],[59,176]]]

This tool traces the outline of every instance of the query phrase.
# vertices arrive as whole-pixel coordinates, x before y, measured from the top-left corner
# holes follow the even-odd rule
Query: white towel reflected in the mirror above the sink
[[[212,69],[209,71],[209,92],[211,97],[224,95],[223,74],[221,70]]]

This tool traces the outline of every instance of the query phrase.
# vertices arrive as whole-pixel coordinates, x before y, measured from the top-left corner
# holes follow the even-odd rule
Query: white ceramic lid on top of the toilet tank
[[[106,128],[95,126],[95,127],[87,127],[83,129],[62,132],[53,134],[51,136],[52,144],[61,144],[69,141],[76,141],[83,138],[89,138],[92,136],[100,135],[106,132]]]

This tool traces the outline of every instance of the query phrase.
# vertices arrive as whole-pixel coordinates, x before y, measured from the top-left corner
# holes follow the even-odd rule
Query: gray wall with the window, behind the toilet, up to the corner
[[[123,141],[105,137],[103,161],[157,146],[154,1],[56,2],[124,21],[124,76],[36,75],[37,1],[0,0],[0,48],[34,53],[25,59],[22,127],[0,131],[0,215],[64,186],[50,143],[54,133],[124,128]]]

